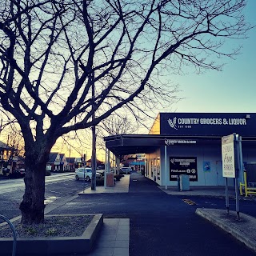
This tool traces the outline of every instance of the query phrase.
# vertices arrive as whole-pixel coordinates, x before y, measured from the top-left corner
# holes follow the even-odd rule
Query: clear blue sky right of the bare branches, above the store
[[[256,0],[248,0],[246,21],[256,25]],[[256,112],[256,28],[249,38],[238,41],[243,48],[235,60],[223,59],[221,72],[208,70],[205,74],[186,74],[174,78],[182,90],[182,101],[174,104],[176,112]],[[170,110],[168,110],[170,111]]]

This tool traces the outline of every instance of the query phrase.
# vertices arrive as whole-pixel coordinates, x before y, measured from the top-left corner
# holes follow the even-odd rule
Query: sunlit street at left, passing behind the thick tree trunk
[[[76,181],[73,173],[52,174],[46,177],[45,203],[48,205],[68,198],[89,187],[90,182]],[[0,179],[0,214],[9,219],[21,214],[18,206],[22,202],[24,188],[23,178]]]

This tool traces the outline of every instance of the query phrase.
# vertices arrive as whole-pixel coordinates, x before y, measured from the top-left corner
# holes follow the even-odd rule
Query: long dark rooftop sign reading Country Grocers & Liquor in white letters
[[[160,133],[167,135],[256,136],[256,114],[160,113]]]

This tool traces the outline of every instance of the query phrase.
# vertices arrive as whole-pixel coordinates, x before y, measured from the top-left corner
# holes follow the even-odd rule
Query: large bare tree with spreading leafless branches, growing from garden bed
[[[250,29],[245,5],[1,1],[0,102],[17,119],[26,151],[22,222],[44,220],[46,162],[57,138],[96,126],[124,106],[139,112],[171,101],[174,88],[165,78],[182,66],[220,70],[214,57],[238,52],[222,51],[226,39],[245,38]]]

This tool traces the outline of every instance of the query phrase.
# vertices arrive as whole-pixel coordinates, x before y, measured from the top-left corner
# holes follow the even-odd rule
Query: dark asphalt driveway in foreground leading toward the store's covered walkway
[[[192,198],[198,205],[182,199],[165,194],[139,174],[131,174],[129,193],[83,194],[51,214],[102,213],[104,218],[130,218],[130,256],[255,255],[194,213],[199,205],[212,207],[218,202],[225,206],[224,198],[216,198],[216,202],[214,198]]]

